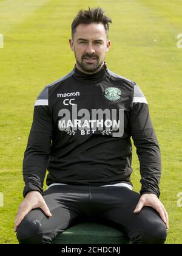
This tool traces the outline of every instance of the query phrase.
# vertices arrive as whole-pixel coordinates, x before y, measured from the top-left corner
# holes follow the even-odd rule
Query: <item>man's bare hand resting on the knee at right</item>
[[[161,216],[161,219],[166,224],[166,229],[169,229],[169,216],[164,208],[164,205],[155,194],[143,194],[140,197],[138,205],[136,205],[134,213],[139,213],[144,206],[150,206],[155,209]]]

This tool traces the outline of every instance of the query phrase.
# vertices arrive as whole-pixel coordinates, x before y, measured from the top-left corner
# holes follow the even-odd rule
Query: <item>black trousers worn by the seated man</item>
[[[52,213],[32,210],[18,227],[19,243],[52,243],[60,232],[81,221],[98,221],[125,233],[133,243],[163,244],[166,226],[152,207],[134,214],[140,194],[126,187],[55,185],[44,191]]]

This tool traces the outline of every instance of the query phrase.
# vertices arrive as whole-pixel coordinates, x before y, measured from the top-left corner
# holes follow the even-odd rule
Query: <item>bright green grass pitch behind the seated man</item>
[[[70,24],[88,5],[103,7],[112,18],[108,68],[137,82],[149,102],[163,163],[161,201],[170,217],[166,243],[181,243],[181,0],[0,0],[0,243],[18,243],[13,225],[22,201],[22,158],[33,105],[45,85],[72,70]],[[140,191],[135,152],[132,166],[134,190]]]

